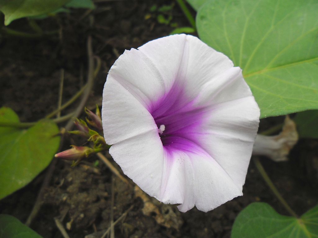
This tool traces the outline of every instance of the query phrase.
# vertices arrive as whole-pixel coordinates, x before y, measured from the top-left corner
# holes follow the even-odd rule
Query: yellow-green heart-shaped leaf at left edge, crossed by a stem
[[[0,108],[1,122],[19,122],[10,108]],[[0,126],[0,199],[37,176],[51,162],[59,147],[59,128],[39,121],[29,129]]]

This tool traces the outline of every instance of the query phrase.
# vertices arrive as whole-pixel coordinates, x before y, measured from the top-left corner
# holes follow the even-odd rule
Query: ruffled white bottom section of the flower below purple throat
[[[173,159],[171,159],[173,157]],[[178,209],[186,212],[194,207],[201,211],[213,208],[242,195],[232,178],[204,151],[185,153],[174,151],[168,158],[163,174],[160,197],[163,203],[179,203]],[[166,163],[167,165],[167,163]]]

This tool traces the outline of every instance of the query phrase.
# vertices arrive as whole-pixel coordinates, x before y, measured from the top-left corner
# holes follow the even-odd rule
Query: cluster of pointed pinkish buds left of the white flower
[[[73,166],[78,164],[84,158],[89,157],[92,154],[96,154],[100,151],[109,149],[109,145],[106,144],[103,136],[99,134],[99,132],[92,130],[89,128],[87,124],[95,127],[98,131],[102,131],[102,122],[100,116],[100,110],[97,106],[96,113],[93,113],[91,110],[85,108],[86,122],[82,119],[76,119],[74,124],[77,130],[69,131],[72,134],[82,136],[87,139],[88,142],[92,142],[93,147],[88,146],[76,146],[71,145],[72,149],[68,149],[62,151],[55,155],[56,158],[65,159],[65,160],[73,160]]]

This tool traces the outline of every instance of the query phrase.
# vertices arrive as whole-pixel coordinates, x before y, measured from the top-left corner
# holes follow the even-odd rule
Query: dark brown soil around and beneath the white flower
[[[149,40],[169,35],[176,24],[190,25],[177,4],[163,13],[167,19],[172,17],[170,23],[173,25],[158,23],[157,16],[161,13],[150,11],[151,7],[172,3],[164,0],[98,1],[97,9],[92,12],[74,10],[71,14],[38,21],[44,30],[61,29],[59,34],[36,39],[0,36],[0,106],[14,109],[22,122],[41,119],[56,109],[61,68],[65,70],[63,102],[70,99],[86,80],[88,35],[93,38],[93,52],[100,57],[102,66],[87,105],[100,103],[107,72],[118,55],[125,49],[137,48]],[[31,31],[25,19],[13,22],[10,27]],[[63,114],[75,108],[76,103]],[[282,120],[263,120],[260,130]],[[65,123],[59,126],[63,127]],[[69,136],[62,148],[68,149],[73,143],[82,142]],[[261,162],[296,213],[301,215],[316,205],[317,140],[300,140],[287,162],[276,163],[267,158],[261,158]],[[45,173],[1,200],[0,213],[13,215],[24,222],[31,212]],[[43,205],[31,228],[45,238],[61,238],[63,236],[54,222],[54,217],[59,217],[71,238],[101,237],[110,226],[113,214],[114,221],[120,218],[114,228],[115,237],[219,238],[230,237],[235,217],[251,202],[268,202],[279,213],[287,215],[252,161],[243,194],[207,213],[196,208],[181,213],[176,205],[161,204],[145,196],[134,185],[122,182],[97,157],[76,167],[70,167],[69,162],[58,161],[50,185],[45,189]]]

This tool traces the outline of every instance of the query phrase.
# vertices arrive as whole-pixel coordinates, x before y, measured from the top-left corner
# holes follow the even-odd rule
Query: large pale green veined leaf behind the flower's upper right
[[[207,1],[200,38],[243,69],[261,117],[318,109],[318,1]]]

